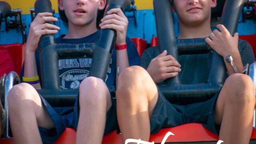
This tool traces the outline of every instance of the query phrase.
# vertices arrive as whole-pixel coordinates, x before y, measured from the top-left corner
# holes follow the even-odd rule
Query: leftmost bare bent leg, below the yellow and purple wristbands
[[[8,104],[15,143],[42,144],[38,126],[54,128],[54,124],[34,87],[15,85],[8,93]]]

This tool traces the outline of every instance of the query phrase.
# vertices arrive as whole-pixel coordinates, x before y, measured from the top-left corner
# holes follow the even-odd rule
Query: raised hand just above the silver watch
[[[231,36],[224,25],[218,24],[216,27],[219,30],[214,30],[205,41],[222,57],[239,54],[238,33]]]

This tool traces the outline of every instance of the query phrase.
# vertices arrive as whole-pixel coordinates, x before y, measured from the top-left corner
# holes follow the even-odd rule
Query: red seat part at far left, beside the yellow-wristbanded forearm
[[[0,45],[0,49],[8,49],[14,62],[15,71],[20,75],[24,62],[25,44],[4,44]]]

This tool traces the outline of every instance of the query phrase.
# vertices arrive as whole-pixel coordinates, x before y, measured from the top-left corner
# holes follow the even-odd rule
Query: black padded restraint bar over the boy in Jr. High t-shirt
[[[112,8],[125,10],[129,5],[130,0],[109,0],[105,14]],[[37,0],[35,12],[52,12],[50,0]],[[115,40],[116,32],[110,29],[101,30],[98,42],[93,44],[55,44],[54,35],[42,36],[39,44],[42,90],[38,90],[39,94],[52,106],[73,106],[78,90],[60,88],[58,60],[92,57],[89,76],[105,80]]]

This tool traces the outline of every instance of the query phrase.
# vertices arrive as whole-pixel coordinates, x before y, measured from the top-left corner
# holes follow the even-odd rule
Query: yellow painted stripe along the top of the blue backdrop
[[[34,3],[36,0],[0,0],[5,1],[10,4],[10,6],[15,8],[21,8],[22,14],[30,14],[30,8],[34,8]],[[50,0],[52,2],[52,8],[55,12],[58,12],[57,0]],[[135,5],[138,10],[151,10],[153,9],[153,0],[135,0]]]

